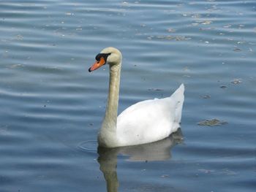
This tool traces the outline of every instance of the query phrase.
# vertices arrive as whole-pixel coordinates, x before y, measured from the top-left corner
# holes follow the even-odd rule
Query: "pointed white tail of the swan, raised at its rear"
[[[184,90],[184,84],[182,83],[180,87],[170,96],[173,99],[173,101],[176,102],[174,119],[176,123],[181,123],[181,113],[184,102]]]

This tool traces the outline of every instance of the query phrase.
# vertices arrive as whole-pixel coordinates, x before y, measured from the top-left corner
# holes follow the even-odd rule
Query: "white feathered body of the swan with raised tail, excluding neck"
[[[184,85],[164,99],[140,101],[121,112],[117,118],[119,146],[155,142],[177,131],[181,122]]]

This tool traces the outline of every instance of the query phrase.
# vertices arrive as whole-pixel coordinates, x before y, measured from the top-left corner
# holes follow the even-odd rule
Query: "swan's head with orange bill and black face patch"
[[[92,72],[105,64],[109,64],[110,66],[121,65],[122,56],[118,49],[114,47],[107,47],[96,55],[95,59],[96,61],[89,68],[89,72]]]

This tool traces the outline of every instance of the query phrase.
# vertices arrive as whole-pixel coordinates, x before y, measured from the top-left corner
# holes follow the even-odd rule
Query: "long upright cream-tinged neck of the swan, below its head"
[[[110,65],[108,104],[106,107],[105,118],[102,123],[102,131],[104,129],[108,129],[108,131],[112,132],[113,134],[116,133],[120,72],[121,72],[121,63],[113,66]]]

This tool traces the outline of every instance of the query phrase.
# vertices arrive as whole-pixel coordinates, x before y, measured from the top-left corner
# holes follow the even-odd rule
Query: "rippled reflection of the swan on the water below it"
[[[128,147],[98,147],[99,169],[104,174],[108,192],[118,191],[116,172],[118,155],[127,155],[129,161],[166,161],[171,158],[171,148],[182,141],[182,133],[179,128],[176,133],[158,142]]]

